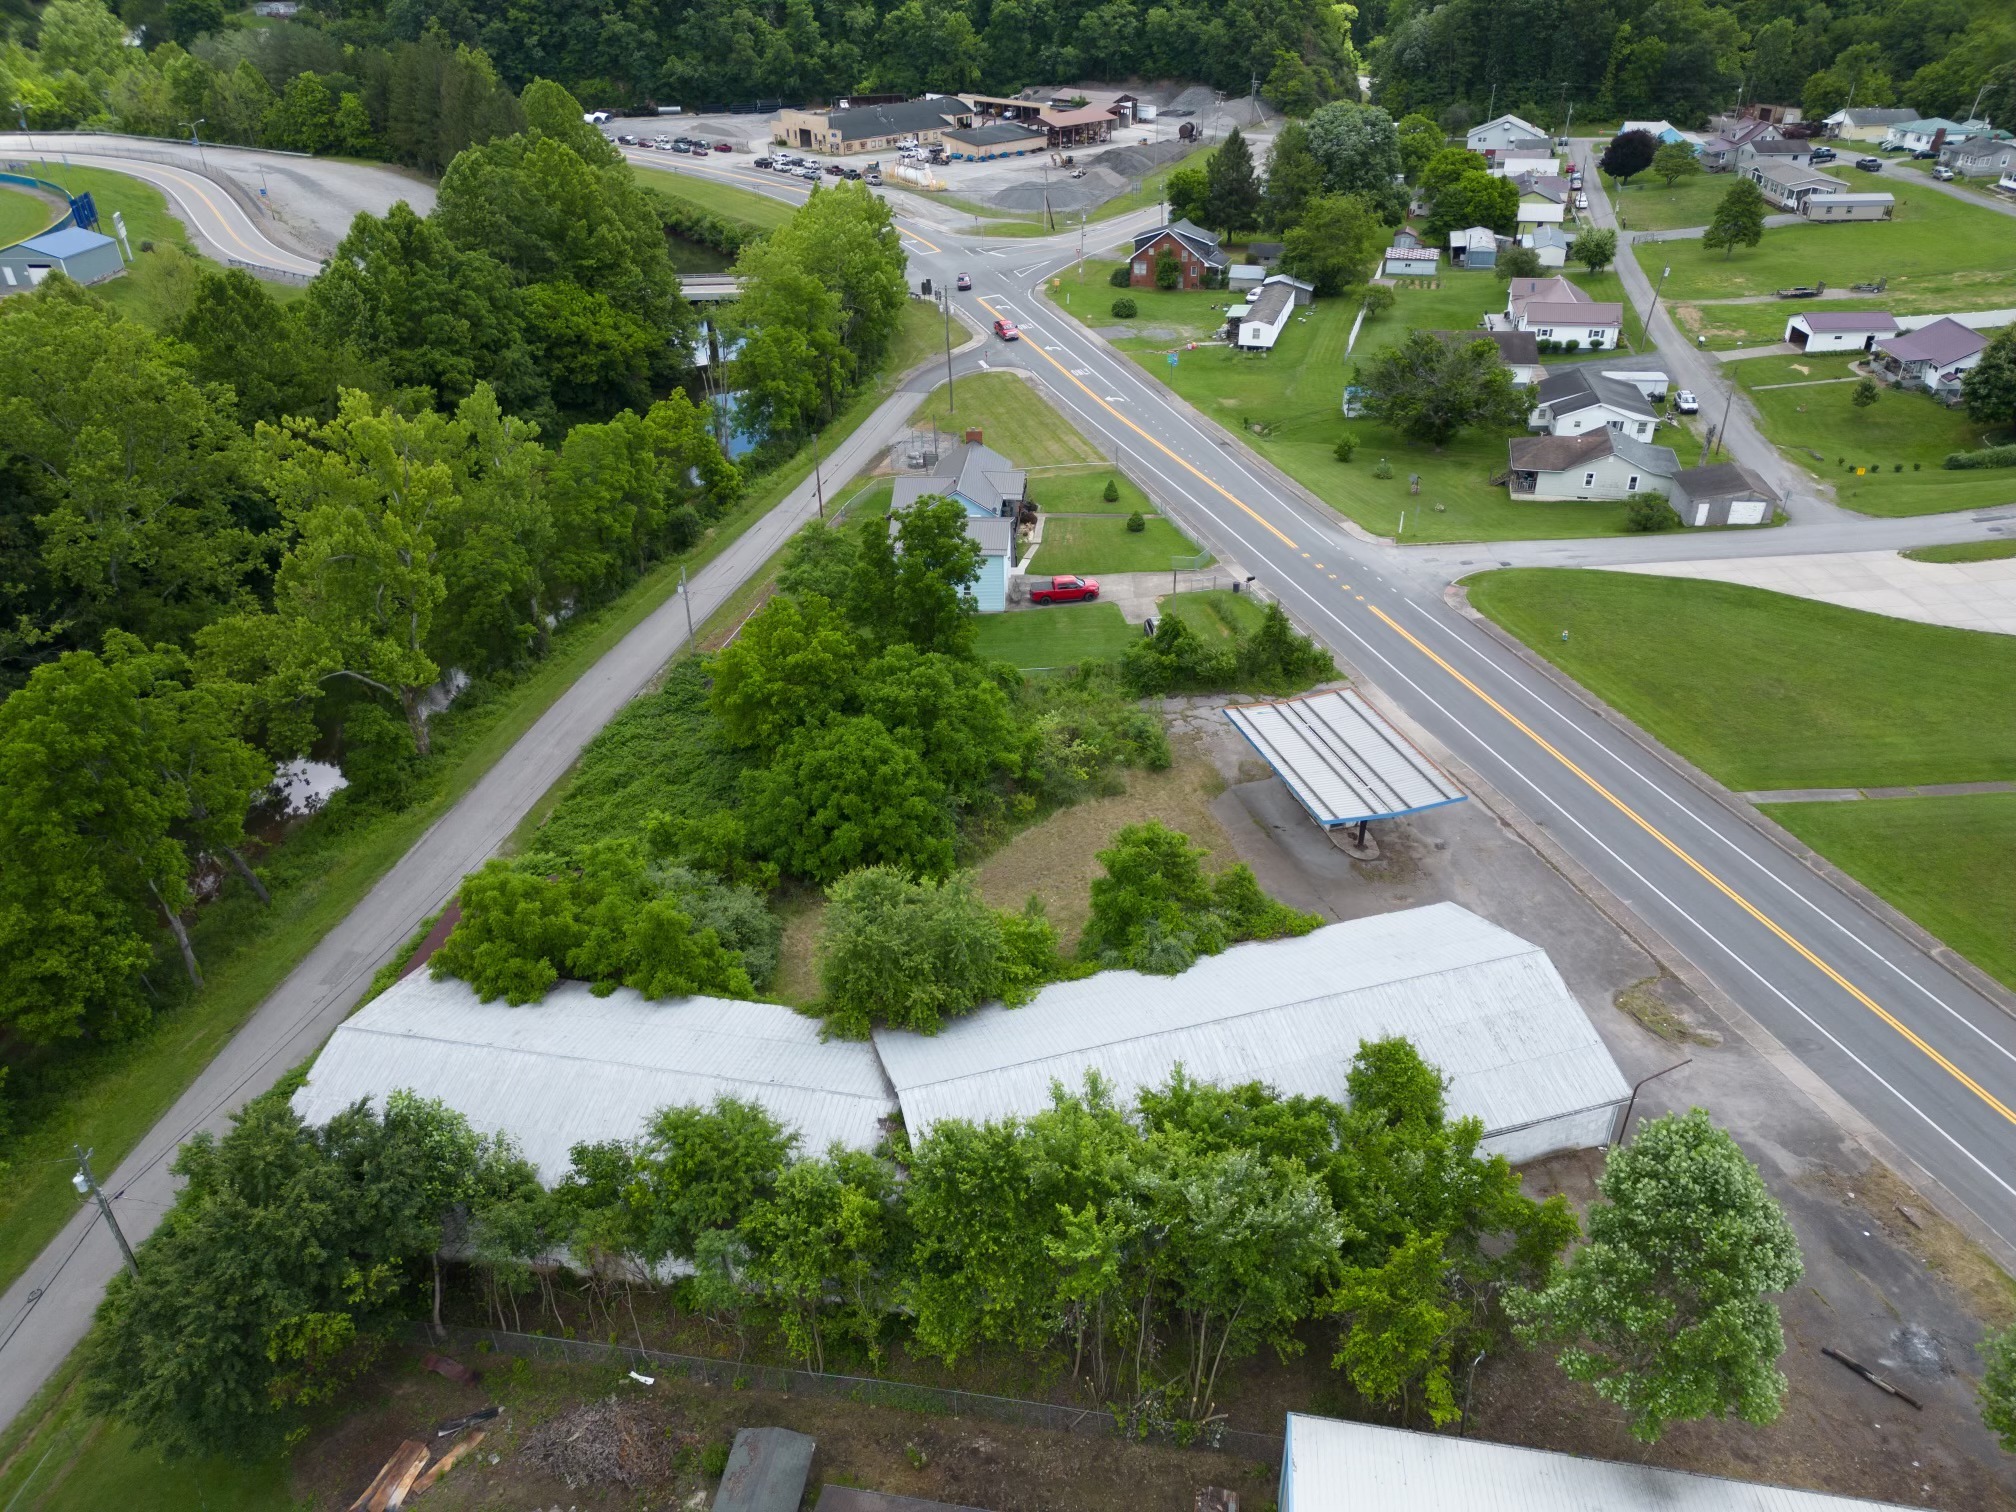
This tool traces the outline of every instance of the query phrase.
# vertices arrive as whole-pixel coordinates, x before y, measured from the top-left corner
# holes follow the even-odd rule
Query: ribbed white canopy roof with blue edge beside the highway
[[[1234,704],[1226,718],[1325,829],[1464,800],[1462,788],[1349,687]]]

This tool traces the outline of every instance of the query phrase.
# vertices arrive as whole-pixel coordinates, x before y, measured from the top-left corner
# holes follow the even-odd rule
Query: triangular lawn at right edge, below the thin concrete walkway
[[[2006,986],[2016,986],[2016,792],[1774,802],[1762,812]]]

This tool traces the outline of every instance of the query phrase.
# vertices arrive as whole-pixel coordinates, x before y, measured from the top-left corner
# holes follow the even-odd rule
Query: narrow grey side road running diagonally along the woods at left
[[[889,446],[937,381],[923,367],[827,458],[825,480],[845,482]],[[694,623],[720,609],[818,508],[812,480],[744,532],[694,577]],[[583,746],[685,645],[677,595],[597,661],[373,887],[357,909],[308,952],[246,1020],[224,1052],[177,1099],[139,1147],[103,1171],[121,1228],[139,1244],[175,1200],[175,1149],[230,1115],[310,1056],[355,1008],[371,976],[405,943],[413,923],[454,893],[464,873],[490,859],[526,810],[575,762]],[[95,1208],[77,1216],[0,1296],[0,1427],[83,1341],[119,1250]]]

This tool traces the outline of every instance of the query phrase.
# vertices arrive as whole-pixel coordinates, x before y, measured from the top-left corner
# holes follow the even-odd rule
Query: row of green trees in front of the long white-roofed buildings
[[[1800,1276],[1778,1204],[1699,1111],[1611,1153],[1589,1242],[1447,1113],[1405,1040],[1359,1046],[1345,1101],[1181,1068],[1133,1107],[1097,1077],[998,1123],[804,1151],[734,1099],[577,1145],[542,1185],[510,1139],[393,1093],[310,1129],[274,1093],[177,1159],[175,1210],[115,1278],[89,1401],[169,1452],[254,1456],[337,1401],[401,1318],[643,1339],[657,1312],[812,1369],[958,1363],[1062,1375],[1131,1433],[1212,1433],[1228,1371],[1325,1351],[1379,1417],[1462,1417],[1478,1353],[1556,1351],[1643,1439],[1776,1417],[1772,1292]],[[1566,1258],[1564,1258],[1566,1256]],[[685,1262],[681,1280],[673,1262]]]

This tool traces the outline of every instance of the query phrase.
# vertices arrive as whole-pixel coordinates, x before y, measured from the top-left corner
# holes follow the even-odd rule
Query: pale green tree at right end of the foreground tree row
[[[1702,1109],[1641,1125],[1609,1153],[1589,1244],[1538,1290],[1508,1296],[1528,1343],[1560,1347],[1574,1381],[1623,1409],[1633,1435],[1784,1401],[1772,1292],[1798,1282],[1798,1240],[1756,1165]]]

